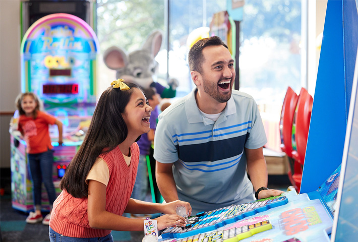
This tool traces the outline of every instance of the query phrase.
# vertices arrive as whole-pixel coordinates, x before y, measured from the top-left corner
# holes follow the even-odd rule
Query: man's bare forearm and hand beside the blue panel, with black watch
[[[257,191],[261,187],[267,187],[267,165],[262,147],[258,149],[245,148],[248,172],[250,175],[251,183],[254,186],[254,190]],[[278,196],[282,191],[279,190],[262,190],[259,192],[258,198],[268,198],[272,196]]]

